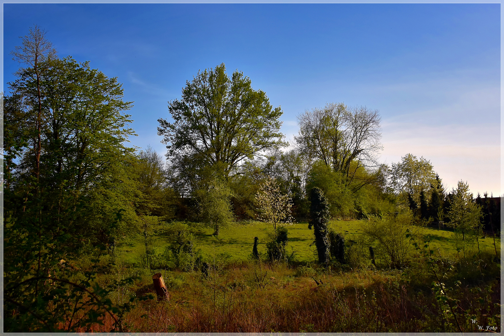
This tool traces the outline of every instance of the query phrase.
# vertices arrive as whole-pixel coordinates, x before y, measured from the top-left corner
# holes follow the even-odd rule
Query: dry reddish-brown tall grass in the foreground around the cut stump
[[[262,288],[255,274],[265,272]],[[170,302],[140,302],[123,325],[141,332],[459,331],[455,319],[443,315],[432,291],[400,281],[399,272],[320,273],[314,275],[322,280],[319,286],[311,275],[295,274],[284,264],[248,263],[228,265],[208,278],[198,272],[170,272]],[[500,287],[497,281],[487,285],[481,291],[463,287],[449,293],[461,298],[456,309],[464,331],[477,331],[469,321],[471,314],[482,324],[500,325],[495,304],[500,302]],[[151,290],[145,284],[136,288]],[[106,326],[107,321],[95,331]]]

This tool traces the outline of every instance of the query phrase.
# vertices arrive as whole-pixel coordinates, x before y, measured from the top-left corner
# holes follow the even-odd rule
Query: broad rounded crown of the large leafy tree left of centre
[[[227,178],[244,158],[284,145],[281,108],[243,73],[229,77],[224,64],[198,72],[168,109],[173,122],[159,119],[158,134],[176,164],[213,166]]]

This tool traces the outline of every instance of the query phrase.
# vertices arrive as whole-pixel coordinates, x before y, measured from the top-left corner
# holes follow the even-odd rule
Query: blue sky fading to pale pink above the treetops
[[[138,137],[164,152],[157,119],[198,70],[225,63],[296,115],[327,102],[382,116],[383,162],[411,152],[448,188],[500,191],[499,4],[4,4],[9,52],[38,24],[60,56],[123,83]]]

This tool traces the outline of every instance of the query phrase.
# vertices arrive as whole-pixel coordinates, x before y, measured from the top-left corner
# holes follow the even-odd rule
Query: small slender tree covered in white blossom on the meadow
[[[273,229],[292,223],[292,202],[288,195],[280,192],[274,179],[268,178],[256,194],[256,203],[260,211],[259,219],[273,224]]]

